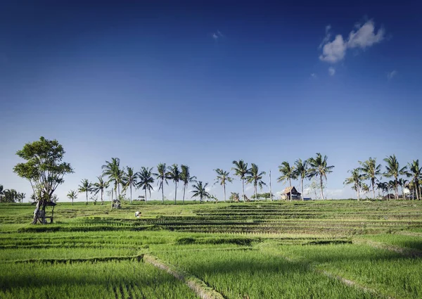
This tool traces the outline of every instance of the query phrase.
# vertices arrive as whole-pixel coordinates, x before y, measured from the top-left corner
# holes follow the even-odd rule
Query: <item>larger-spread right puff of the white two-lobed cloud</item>
[[[349,48],[361,48],[365,49],[368,46],[373,44],[378,44],[384,39],[384,29],[378,29],[378,32],[375,33],[375,25],[372,20],[369,20],[364,25],[357,26],[359,29],[357,32],[350,32],[349,40],[347,46]]]

